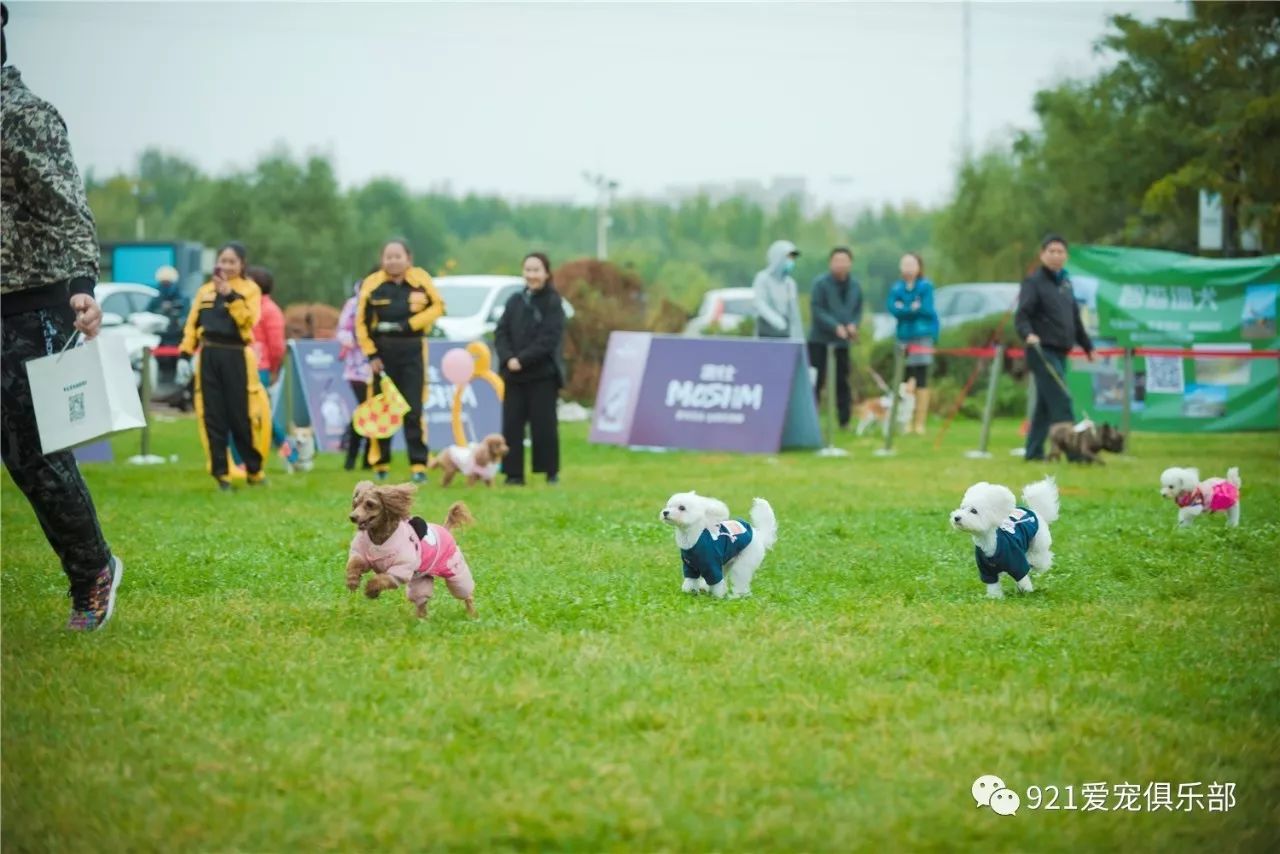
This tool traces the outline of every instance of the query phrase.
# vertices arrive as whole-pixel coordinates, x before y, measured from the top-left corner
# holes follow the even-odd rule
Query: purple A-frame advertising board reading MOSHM
[[[596,397],[594,442],[754,453],[783,439],[820,444],[801,342],[613,333]]]

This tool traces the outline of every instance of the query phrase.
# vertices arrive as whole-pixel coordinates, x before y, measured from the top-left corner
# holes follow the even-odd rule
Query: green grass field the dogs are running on
[[[937,428],[934,428],[937,429]],[[343,586],[356,478],[324,457],[218,494],[191,421],[156,469],[86,466],[125,561],[116,616],[63,631],[64,576],[3,487],[3,841],[12,851],[1276,850],[1280,439],[1138,435],[1050,467],[1055,570],[984,599],[946,513],[977,428],[895,458],[634,453],[566,429],[558,489],[466,497],[481,618]],[[116,443],[134,453],[137,437]],[[1174,463],[1239,465],[1243,525],[1174,530]],[[278,467],[278,462],[273,462]],[[741,602],[680,593],[657,521],[698,489],[780,542]],[[1009,580],[1006,579],[1006,585]],[[978,809],[1005,778],[1016,816]],[[1034,810],[1029,786],[1235,785],[1228,812]],[[1115,798],[1107,798],[1110,808]]]

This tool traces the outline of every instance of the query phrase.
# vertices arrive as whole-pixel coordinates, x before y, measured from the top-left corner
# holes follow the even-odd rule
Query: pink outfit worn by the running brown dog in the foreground
[[[449,529],[417,516],[397,525],[396,533],[381,545],[374,543],[367,531],[356,531],[349,556],[375,572],[385,572],[401,586],[407,584],[408,599],[415,604],[431,598],[435,579],[444,579],[454,599],[470,599],[476,589],[471,567]]]

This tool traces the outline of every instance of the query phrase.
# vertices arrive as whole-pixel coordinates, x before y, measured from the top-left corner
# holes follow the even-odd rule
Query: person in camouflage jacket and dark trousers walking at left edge
[[[0,4],[3,23],[9,10]],[[3,29],[0,29],[3,33]],[[0,36],[3,38],[3,36]],[[93,338],[97,237],[67,125],[32,95],[3,47],[0,68],[0,444],[4,465],[36,511],[70,583],[67,627],[110,618],[124,566],[111,554],[93,498],[69,451],[41,452],[27,362]]]

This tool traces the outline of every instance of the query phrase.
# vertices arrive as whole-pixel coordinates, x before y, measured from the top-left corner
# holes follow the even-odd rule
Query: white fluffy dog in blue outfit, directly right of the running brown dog
[[[695,492],[671,497],[659,519],[676,528],[685,574],[681,590],[694,594],[710,590],[721,599],[727,583],[732,583],[733,598],[751,595],[751,576],[778,539],[778,520],[763,498],[751,502],[750,516],[750,522],[730,519],[724,502]]]

